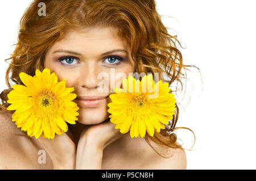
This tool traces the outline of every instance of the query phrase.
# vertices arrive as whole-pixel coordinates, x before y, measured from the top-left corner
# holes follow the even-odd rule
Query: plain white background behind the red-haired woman
[[[30,2],[1,3],[1,91],[7,88],[4,60],[13,51],[18,22]],[[191,69],[191,99],[184,98],[176,125],[196,134],[195,150],[186,151],[187,169],[256,169],[254,2],[156,0],[159,14],[173,17],[163,21],[186,48],[180,48],[184,64],[200,68],[204,82]]]

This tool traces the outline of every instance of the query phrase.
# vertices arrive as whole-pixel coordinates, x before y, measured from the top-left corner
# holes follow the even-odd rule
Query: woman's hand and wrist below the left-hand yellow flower
[[[40,136],[37,139],[53,162],[53,169],[75,169],[76,145],[67,133],[56,134],[53,140]]]

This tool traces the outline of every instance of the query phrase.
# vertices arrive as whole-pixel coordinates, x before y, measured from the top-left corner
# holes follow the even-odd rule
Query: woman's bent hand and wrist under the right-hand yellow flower
[[[81,132],[76,153],[76,169],[101,169],[103,150],[122,133],[109,120]]]

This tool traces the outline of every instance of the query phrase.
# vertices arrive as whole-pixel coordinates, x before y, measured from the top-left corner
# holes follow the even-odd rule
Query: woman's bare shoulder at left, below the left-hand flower
[[[0,169],[52,169],[51,158],[38,162],[40,146],[12,121],[12,114],[0,110]]]

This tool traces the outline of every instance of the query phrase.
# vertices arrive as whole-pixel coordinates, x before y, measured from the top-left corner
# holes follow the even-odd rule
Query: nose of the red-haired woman
[[[97,89],[99,80],[97,79],[99,68],[95,61],[88,61],[81,72],[81,87],[86,89]]]

